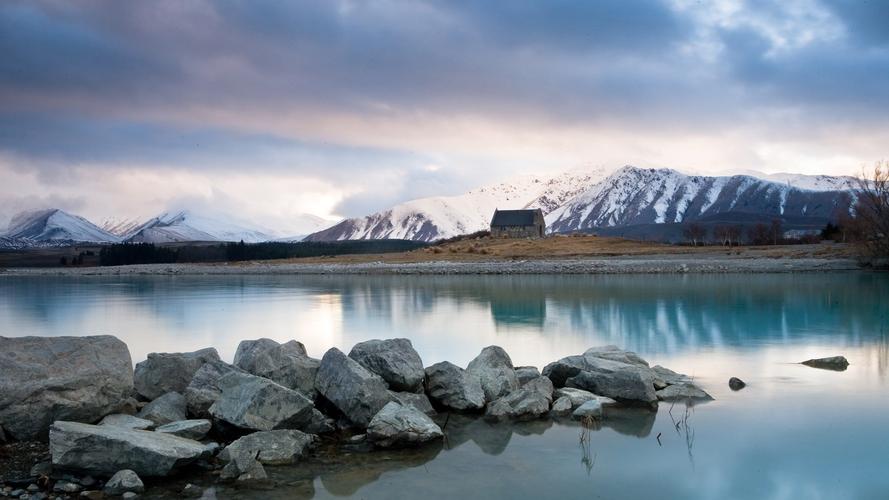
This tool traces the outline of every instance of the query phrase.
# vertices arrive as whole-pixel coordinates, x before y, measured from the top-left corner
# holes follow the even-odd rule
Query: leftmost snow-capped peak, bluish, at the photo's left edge
[[[120,237],[83,217],[58,208],[20,212],[9,221],[3,237],[12,242],[31,243],[116,243]],[[26,245],[27,246],[27,245]]]

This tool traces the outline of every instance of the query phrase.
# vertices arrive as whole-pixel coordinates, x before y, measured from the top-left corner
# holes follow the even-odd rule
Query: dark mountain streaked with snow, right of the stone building
[[[716,216],[826,221],[838,209],[848,210],[848,179],[813,177],[783,176],[776,182],[748,175],[709,177],[627,166],[550,213],[547,224],[551,232],[567,232]]]

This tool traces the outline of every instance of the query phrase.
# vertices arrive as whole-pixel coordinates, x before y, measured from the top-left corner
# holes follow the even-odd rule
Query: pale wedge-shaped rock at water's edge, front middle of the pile
[[[367,439],[381,448],[417,445],[442,436],[441,428],[428,415],[394,401],[374,415],[367,426]]]

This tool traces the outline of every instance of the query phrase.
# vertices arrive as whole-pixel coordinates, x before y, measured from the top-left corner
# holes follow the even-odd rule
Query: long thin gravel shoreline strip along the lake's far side
[[[720,274],[806,273],[855,271],[854,259],[731,257],[702,254],[646,255],[577,259],[491,260],[476,262],[428,261],[414,263],[273,263],[141,264],[84,268],[8,268],[2,276],[134,276],[134,275],[494,275],[494,274]]]

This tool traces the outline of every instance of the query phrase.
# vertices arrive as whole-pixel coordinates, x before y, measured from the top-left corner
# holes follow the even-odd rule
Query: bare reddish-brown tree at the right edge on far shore
[[[889,258],[889,162],[874,165],[872,175],[862,172],[858,181],[855,219],[862,231],[868,256]]]

